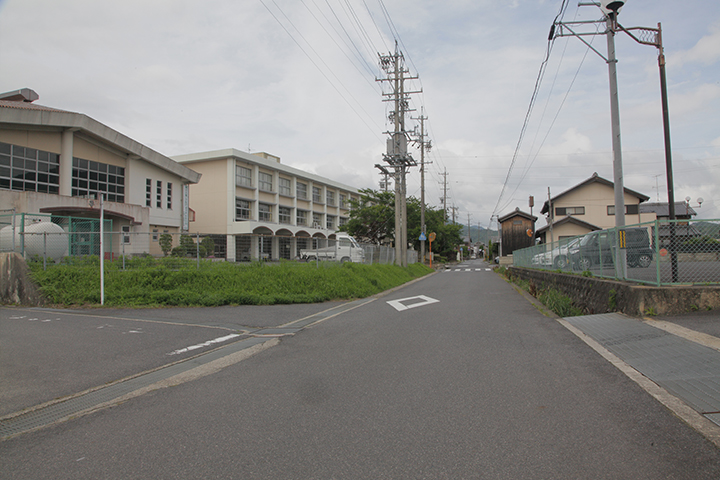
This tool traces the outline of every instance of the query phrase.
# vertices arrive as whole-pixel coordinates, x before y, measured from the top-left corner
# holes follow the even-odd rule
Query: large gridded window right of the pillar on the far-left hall
[[[72,195],[99,198],[101,194],[108,202],[125,202],[125,168],[73,158]]]

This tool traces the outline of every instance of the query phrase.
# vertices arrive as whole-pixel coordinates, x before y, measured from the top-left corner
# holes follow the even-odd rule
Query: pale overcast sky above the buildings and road
[[[608,69],[559,38],[503,185],[559,0],[0,0],[0,91],[84,113],[167,155],[224,148],[356,188],[379,188],[388,104],[378,53],[397,40],[433,149],[426,201],[447,171],[457,220],[487,227],[593,172],[613,179]],[[384,6],[384,8],[383,8]],[[565,21],[597,20],[569,3]],[[351,20],[352,19],[352,20]],[[720,218],[720,2],[629,0],[625,27],[662,23],[675,198]],[[587,37],[606,54],[605,36]],[[657,50],[616,39],[624,182],[667,201]],[[408,119],[408,129],[416,122]],[[413,153],[419,160],[419,152]],[[420,197],[420,174],[408,177]],[[539,226],[544,225],[543,220]]]

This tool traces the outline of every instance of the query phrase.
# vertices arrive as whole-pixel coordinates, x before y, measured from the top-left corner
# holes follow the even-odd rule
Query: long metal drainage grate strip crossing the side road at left
[[[191,358],[184,362],[176,363],[145,375],[128,379],[124,382],[109,385],[107,387],[88,392],[84,395],[70,398],[58,403],[53,403],[52,405],[23,413],[12,418],[0,420],[0,438],[14,436],[79,415],[84,411],[120,398],[123,395],[127,395],[128,393],[147,387],[153,383],[166,380],[180,373],[192,370],[200,365],[205,365],[219,358],[226,357],[266,341],[266,338],[248,338],[241,340],[227,345],[226,347],[208,352],[199,357]]]

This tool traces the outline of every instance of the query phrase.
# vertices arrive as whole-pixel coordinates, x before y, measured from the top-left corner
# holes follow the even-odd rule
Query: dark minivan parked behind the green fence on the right
[[[623,228],[627,264],[647,268],[653,261],[650,236],[645,228]],[[585,235],[568,250],[573,268],[590,270],[593,265],[612,265],[615,260],[615,231],[600,230]]]

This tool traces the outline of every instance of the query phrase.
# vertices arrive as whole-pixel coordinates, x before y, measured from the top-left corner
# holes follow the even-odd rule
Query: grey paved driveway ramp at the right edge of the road
[[[667,323],[677,327],[677,322],[671,322],[670,318],[643,322],[609,313],[564,320],[720,425],[720,351],[717,349],[720,340],[716,337],[668,327]]]

